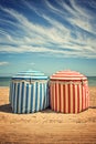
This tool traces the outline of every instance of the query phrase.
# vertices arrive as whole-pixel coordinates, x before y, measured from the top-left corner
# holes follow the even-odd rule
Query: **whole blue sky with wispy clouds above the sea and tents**
[[[0,76],[96,75],[96,0],[0,0]]]

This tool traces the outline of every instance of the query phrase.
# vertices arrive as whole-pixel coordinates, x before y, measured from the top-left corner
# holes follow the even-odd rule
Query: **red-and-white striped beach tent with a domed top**
[[[75,71],[58,71],[50,78],[51,109],[79,113],[89,106],[87,78]]]

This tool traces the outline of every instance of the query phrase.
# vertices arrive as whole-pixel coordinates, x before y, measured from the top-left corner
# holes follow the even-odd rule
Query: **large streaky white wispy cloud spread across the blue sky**
[[[44,2],[44,9],[47,9],[50,14],[43,9],[39,12],[35,6],[26,1],[25,4],[49,27],[30,21],[24,13],[17,10],[0,7],[2,12],[15,21],[1,19],[2,24],[10,23],[10,27],[17,28],[14,32],[0,28],[0,52],[39,52],[54,56],[96,58],[96,27],[94,24],[96,17],[74,0],[71,1],[72,7],[63,0],[61,2],[55,0],[58,7],[47,0]]]

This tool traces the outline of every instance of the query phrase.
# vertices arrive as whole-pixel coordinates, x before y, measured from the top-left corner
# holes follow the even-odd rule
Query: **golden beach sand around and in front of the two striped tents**
[[[13,114],[9,88],[0,88],[0,144],[96,144],[96,88],[89,95],[90,107],[78,114]]]

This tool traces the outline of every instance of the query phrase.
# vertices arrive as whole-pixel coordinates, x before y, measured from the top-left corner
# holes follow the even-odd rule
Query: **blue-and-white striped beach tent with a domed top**
[[[49,106],[47,76],[40,71],[20,72],[10,83],[13,113],[34,113]]]

